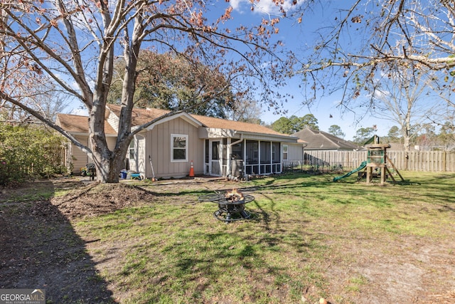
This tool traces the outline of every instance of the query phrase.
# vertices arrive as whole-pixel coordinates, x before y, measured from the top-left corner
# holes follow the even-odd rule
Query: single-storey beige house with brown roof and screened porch
[[[134,108],[132,128],[161,117],[167,110]],[[117,139],[119,105],[107,105],[105,132],[112,149]],[[57,125],[88,145],[88,117],[58,114]],[[129,145],[129,169],[145,177],[180,178],[195,174],[215,177],[281,173],[286,162],[301,162],[303,142],[262,125],[178,112],[134,136]],[[154,167],[152,173],[149,157]],[[68,166],[77,173],[90,162],[74,145]]]

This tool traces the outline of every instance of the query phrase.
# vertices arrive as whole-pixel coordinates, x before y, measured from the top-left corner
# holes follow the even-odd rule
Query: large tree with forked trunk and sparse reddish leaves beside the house
[[[270,39],[278,33],[279,19],[264,19],[257,26],[232,29],[229,27],[232,7],[225,4],[220,16],[209,20],[214,8],[210,6],[208,14],[202,0],[1,1],[0,100],[26,110],[89,154],[100,182],[118,182],[129,142],[137,132],[156,122],[134,130],[131,127],[141,48],[178,53],[189,62],[203,63],[221,73],[255,78],[250,93],[259,95],[267,105],[279,106],[275,97],[281,95],[275,93],[283,84],[282,71],[291,67],[274,51],[279,41],[272,44]],[[105,105],[116,56],[124,58],[125,73],[117,142],[109,150]],[[87,108],[91,147],[82,145],[23,103],[23,96],[32,91],[29,88],[50,80],[58,90],[80,100]],[[205,100],[205,92],[200,94],[201,100]],[[210,92],[212,97],[216,94]]]

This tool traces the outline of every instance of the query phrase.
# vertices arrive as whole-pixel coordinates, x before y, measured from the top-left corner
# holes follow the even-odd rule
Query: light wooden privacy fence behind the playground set
[[[445,151],[387,151],[398,170],[422,172],[455,172],[455,152]],[[304,166],[322,171],[350,170],[367,160],[366,151],[305,151]]]

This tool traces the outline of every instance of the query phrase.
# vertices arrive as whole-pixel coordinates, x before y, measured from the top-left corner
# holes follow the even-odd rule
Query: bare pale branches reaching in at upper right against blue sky
[[[432,87],[454,105],[455,3],[447,0],[332,1],[339,7],[331,24],[319,29],[319,43],[302,60],[308,88],[341,90],[343,107],[373,105],[374,91],[388,78],[390,64],[412,73],[434,71]],[[331,15],[332,16],[332,15]],[[370,98],[358,100],[359,96]]]

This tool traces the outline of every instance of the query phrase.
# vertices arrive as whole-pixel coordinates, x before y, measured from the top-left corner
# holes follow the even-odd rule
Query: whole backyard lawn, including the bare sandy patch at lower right
[[[64,246],[83,244],[75,259],[90,261],[88,280],[109,295],[87,300],[59,286],[52,297],[53,283],[47,294],[51,303],[455,303],[455,174],[402,175],[407,182],[385,186],[331,174],[122,183],[121,192],[149,196],[129,194],[132,204],[87,216],[68,216],[74,194],[54,184],[50,201],[79,240]],[[90,187],[85,194],[97,192],[83,209],[118,206],[112,187]],[[255,196],[250,220],[225,224],[213,217],[216,204],[198,201],[232,188]],[[20,197],[1,214],[17,214],[11,201]]]

